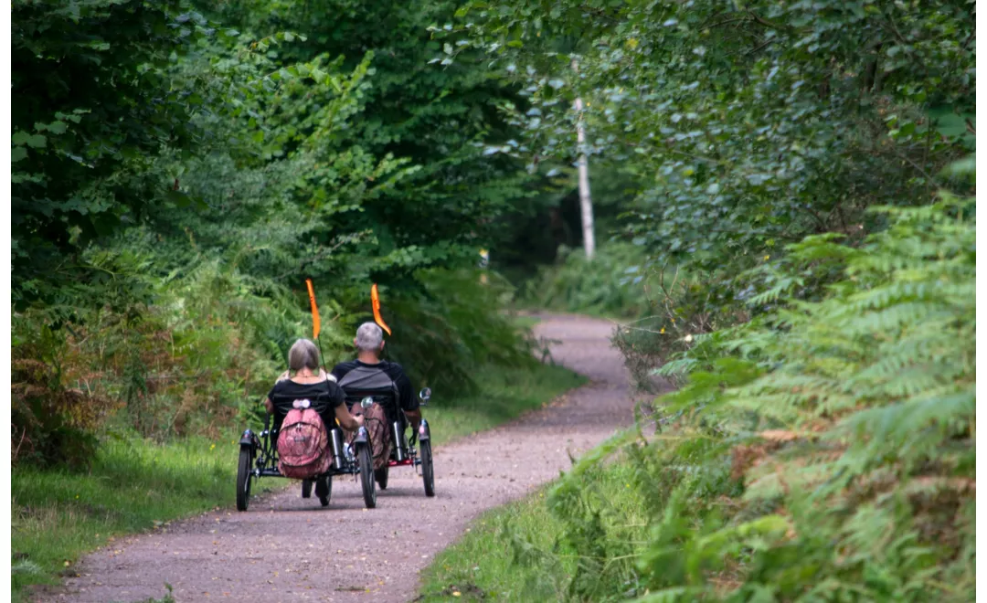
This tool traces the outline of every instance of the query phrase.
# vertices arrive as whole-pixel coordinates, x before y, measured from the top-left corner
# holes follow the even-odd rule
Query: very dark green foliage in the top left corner
[[[181,2],[19,1],[12,13],[13,298],[49,300],[75,252],[164,200],[149,170],[194,148],[198,96],[169,67],[215,36]]]

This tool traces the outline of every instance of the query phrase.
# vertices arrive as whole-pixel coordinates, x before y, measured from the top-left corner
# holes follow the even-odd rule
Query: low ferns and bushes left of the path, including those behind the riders
[[[15,465],[85,467],[96,436],[117,427],[160,442],[214,438],[234,423],[261,422],[259,403],[286,368],[288,348],[311,337],[304,287],[289,291],[218,260],[163,281],[122,267],[141,265],[137,257],[113,263],[119,278],[130,281],[121,291],[147,287],[146,296],[122,296],[92,310],[14,315]],[[490,276],[481,285],[475,271],[421,270],[414,286],[383,289],[383,311],[395,333],[388,353],[416,384],[475,393],[481,371],[535,362],[524,333],[499,313],[509,288]],[[345,301],[360,309],[369,305],[368,295],[332,293],[352,295]],[[323,291],[318,302],[332,367],[352,357],[351,334],[369,317]]]

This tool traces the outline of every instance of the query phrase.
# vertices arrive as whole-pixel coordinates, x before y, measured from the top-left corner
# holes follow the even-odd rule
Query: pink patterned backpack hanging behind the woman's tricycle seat
[[[329,432],[313,409],[292,409],[277,435],[277,471],[285,478],[307,480],[329,471]]]

